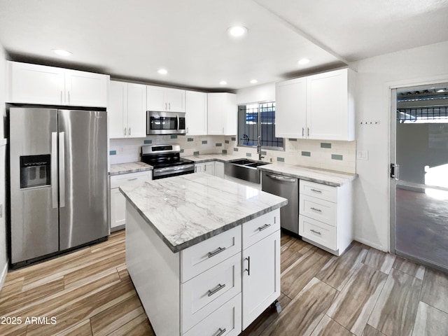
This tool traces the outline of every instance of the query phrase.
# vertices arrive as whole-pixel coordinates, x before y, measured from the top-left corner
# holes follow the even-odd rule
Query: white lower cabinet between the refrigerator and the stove
[[[126,223],[126,199],[118,188],[126,183],[151,179],[153,179],[151,170],[111,176],[111,231],[119,230]]]

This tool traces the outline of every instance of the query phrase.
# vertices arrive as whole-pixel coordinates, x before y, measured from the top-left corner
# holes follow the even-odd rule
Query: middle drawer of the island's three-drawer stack
[[[182,330],[189,330],[240,292],[241,253],[182,283]]]

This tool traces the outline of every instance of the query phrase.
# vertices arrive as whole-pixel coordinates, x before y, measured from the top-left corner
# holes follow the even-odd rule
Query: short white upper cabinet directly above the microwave
[[[148,111],[185,112],[185,90],[147,85]]]

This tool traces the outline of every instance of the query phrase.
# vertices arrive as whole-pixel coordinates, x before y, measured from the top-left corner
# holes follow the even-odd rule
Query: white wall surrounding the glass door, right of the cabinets
[[[363,59],[358,71],[356,101],[357,150],[369,160],[357,160],[355,182],[355,239],[388,251],[389,248],[389,145],[390,90],[448,81],[448,42]],[[379,125],[359,124],[380,120]]]

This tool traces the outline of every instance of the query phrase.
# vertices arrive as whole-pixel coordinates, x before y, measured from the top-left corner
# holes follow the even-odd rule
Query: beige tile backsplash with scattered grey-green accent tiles
[[[155,135],[139,139],[111,139],[111,164],[139,161],[143,144],[180,144],[183,149],[181,156],[227,153],[258,160],[256,148],[237,146],[235,137]],[[284,151],[263,149],[263,160],[356,173],[356,141],[284,139],[284,145]]]

